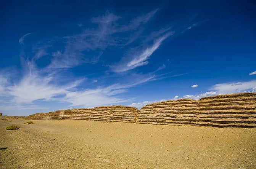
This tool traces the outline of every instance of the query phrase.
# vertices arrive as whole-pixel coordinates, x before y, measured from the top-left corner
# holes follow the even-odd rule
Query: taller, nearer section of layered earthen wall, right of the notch
[[[153,103],[139,110],[136,122],[256,127],[256,93]]]

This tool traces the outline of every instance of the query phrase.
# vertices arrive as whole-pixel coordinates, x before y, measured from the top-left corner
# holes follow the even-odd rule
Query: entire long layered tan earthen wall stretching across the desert
[[[148,104],[137,110],[127,106],[74,108],[36,113],[27,119],[96,120],[146,124],[192,124],[216,127],[256,127],[256,93],[226,94],[200,100],[179,99]]]

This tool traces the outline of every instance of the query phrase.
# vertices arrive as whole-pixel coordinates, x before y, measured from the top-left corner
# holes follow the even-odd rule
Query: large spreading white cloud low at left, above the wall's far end
[[[39,53],[41,52],[39,51]],[[106,87],[97,87],[96,89],[78,88],[78,85],[84,79],[60,85],[57,83],[60,79],[57,76],[58,70],[54,69],[49,72],[48,68],[37,69],[35,64],[35,57],[37,56],[39,54],[36,53],[31,61],[28,59],[23,61],[25,72],[18,83],[10,84],[8,83],[8,78],[0,76],[0,92],[4,92],[9,97],[4,104],[3,102],[0,104],[3,110],[10,110],[11,105],[23,108],[23,110],[26,106],[38,110],[40,107],[36,107],[33,104],[39,100],[41,103],[42,101],[63,102],[70,103],[70,106],[83,107],[113,105],[130,101],[130,99],[118,96],[126,92],[127,89],[155,80],[155,76],[131,75],[133,83],[127,84],[126,82],[124,85],[114,84]],[[97,80],[94,80],[94,82],[97,82]]]

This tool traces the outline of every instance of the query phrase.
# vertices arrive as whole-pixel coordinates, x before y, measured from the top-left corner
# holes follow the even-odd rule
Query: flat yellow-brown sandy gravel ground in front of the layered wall
[[[0,168],[256,168],[255,128],[26,121],[0,120]]]

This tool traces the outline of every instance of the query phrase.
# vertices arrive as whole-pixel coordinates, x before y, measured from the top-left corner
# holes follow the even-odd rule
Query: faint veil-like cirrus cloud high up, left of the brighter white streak
[[[121,16],[107,11],[106,14],[91,19],[96,29],[85,29],[77,35],[64,37],[66,45],[63,51],[53,52],[50,68],[69,68],[83,63],[98,62],[104,50],[111,46],[126,46],[136,40],[143,32],[143,24],[156,13],[153,10],[132,19],[129,23],[119,24]],[[126,32],[126,35],[122,33]],[[122,34],[122,35],[121,35]]]

